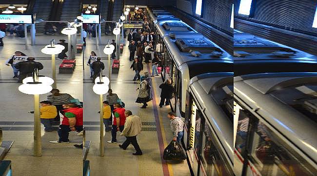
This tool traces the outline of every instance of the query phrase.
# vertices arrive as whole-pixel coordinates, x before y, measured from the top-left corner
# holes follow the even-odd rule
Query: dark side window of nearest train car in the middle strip
[[[202,121],[201,121],[202,122]],[[201,150],[201,164],[204,168],[205,175],[207,176],[233,176],[232,171],[229,169],[230,165],[223,155],[221,146],[218,145],[218,142],[215,140],[215,136],[211,132],[211,127],[209,124],[204,124],[202,129],[202,150]],[[200,124],[202,125],[202,124]],[[200,131],[201,132],[201,131]]]

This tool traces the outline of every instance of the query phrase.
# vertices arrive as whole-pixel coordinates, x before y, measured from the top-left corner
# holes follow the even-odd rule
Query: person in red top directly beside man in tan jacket
[[[111,130],[112,139],[110,141],[107,141],[108,143],[117,143],[117,132],[123,131],[124,123],[125,123],[125,115],[124,115],[125,109],[122,108],[121,105],[118,103],[116,103],[114,107],[115,107],[115,109],[113,110],[114,119],[113,119],[113,123],[112,123],[113,125]]]

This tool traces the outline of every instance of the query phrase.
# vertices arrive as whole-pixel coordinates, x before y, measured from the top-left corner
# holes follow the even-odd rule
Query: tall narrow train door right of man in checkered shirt
[[[200,124],[204,123],[204,118],[200,110],[191,98],[189,92],[187,92],[186,99],[188,101],[187,113],[185,115],[185,124],[187,133],[184,133],[184,143],[186,145],[186,152],[190,161],[191,169],[195,176],[199,175],[199,154],[201,150],[201,136],[200,136]],[[186,101],[187,101],[186,100]]]

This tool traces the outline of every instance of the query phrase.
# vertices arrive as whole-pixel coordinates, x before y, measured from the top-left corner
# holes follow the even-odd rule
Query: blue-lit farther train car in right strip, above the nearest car
[[[317,57],[257,36],[234,31],[235,76],[266,72],[316,72]]]

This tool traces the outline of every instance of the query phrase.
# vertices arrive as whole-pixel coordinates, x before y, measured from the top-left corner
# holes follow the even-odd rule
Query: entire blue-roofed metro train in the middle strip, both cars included
[[[233,175],[231,55],[181,20],[147,11],[163,54],[163,79],[175,88],[171,109],[185,120],[183,143],[192,174]]]

